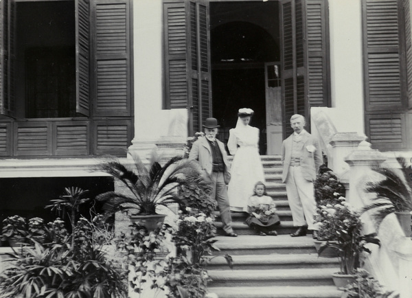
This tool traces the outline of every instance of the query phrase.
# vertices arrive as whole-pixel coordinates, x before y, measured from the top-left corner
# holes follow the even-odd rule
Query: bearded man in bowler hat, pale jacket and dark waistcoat
[[[218,202],[223,231],[229,237],[237,237],[231,227],[229,198],[227,197],[227,183],[230,181],[230,166],[227,161],[225,146],[216,139],[218,133],[218,120],[207,118],[205,124],[205,137],[199,137],[190,150],[189,159],[198,161],[203,170],[205,179],[212,181],[213,191],[211,198]]]

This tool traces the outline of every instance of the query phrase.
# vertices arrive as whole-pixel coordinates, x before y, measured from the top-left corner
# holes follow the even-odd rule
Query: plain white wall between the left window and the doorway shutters
[[[133,1],[135,137],[133,144],[187,135],[185,110],[162,110],[162,1]]]

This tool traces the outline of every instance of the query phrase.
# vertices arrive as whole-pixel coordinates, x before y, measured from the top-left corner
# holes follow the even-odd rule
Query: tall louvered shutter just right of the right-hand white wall
[[[363,0],[365,130],[374,148],[407,148],[407,84],[401,1]]]

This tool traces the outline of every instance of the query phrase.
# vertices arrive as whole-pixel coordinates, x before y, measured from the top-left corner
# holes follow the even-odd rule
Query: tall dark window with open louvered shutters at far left
[[[0,2],[0,156],[124,154],[131,3]]]

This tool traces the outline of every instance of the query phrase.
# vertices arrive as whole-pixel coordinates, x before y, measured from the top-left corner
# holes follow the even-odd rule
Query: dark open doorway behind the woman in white
[[[268,154],[271,111],[266,106],[273,98],[266,94],[265,63],[280,60],[278,2],[211,1],[210,29],[212,107],[221,126],[219,138],[227,142],[239,108],[252,108],[251,126],[260,129],[260,154]]]

